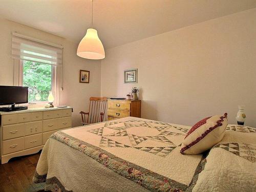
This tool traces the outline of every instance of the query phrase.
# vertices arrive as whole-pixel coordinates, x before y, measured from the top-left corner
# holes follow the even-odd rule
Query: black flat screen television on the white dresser
[[[25,106],[15,104],[28,102],[28,87],[0,86],[0,105],[11,105],[11,107],[0,108],[0,111],[19,111],[28,109]]]

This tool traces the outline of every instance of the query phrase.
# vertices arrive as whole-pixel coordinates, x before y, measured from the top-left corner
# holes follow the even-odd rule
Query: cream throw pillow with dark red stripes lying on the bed
[[[215,115],[197,122],[184,138],[182,154],[201,154],[220,142],[227,127],[227,113]]]

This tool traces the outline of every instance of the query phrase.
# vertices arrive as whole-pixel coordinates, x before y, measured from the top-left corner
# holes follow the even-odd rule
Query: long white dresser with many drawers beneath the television
[[[1,164],[39,152],[56,131],[71,127],[72,108],[37,108],[0,112]]]

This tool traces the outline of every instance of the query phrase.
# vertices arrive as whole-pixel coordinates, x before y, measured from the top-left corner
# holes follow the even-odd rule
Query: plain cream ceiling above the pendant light
[[[0,0],[0,15],[79,42],[91,28],[91,0]],[[255,0],[94,0],[94,28],[106,49],[256,7]]]

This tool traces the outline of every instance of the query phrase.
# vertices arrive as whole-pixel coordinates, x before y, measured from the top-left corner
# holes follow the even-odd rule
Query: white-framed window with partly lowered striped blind
[[[62,48],[49,44],[13,33],[14,85],[29,88],[29,104],[47,103],[50,91],[59,104]]]

